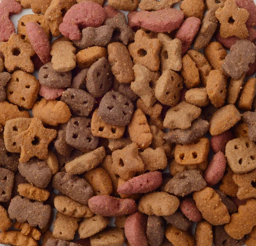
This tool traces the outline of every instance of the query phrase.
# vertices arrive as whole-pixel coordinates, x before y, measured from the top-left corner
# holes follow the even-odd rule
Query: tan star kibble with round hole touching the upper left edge
[[[24,72],[34,72],[31,57],[35,51],[30,43],[26,43],[19,35],[13,33],[6,43],[0,43],[0,51],[4,55],[4,65],[8,72],[20,69]]]

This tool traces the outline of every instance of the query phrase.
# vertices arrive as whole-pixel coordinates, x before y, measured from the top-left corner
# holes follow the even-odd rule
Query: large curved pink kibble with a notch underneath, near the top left
[[[88,26],[99,27],[102,25],[106,14],[101,5],[91,1],[84,1],[72,6],[59,26],[61,34],[71,40],[81,39],[80,29]],[[79,29],[80,28],[80,29]]]

